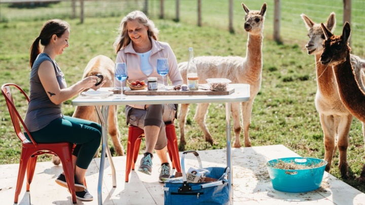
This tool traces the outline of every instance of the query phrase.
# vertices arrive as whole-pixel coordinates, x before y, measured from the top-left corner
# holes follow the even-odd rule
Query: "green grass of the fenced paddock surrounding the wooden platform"
[[[185,1],[180,2],[186,4]],[[213,6],[224,7],[217,3],[221,1],[213,2],[215,3],[212,4]],[[237,20],[235,20],[234,33],[228,32],[227,24],[220,24],[213,20],[213,22],[217,22],[217,25],[212,25],[213,23],[208,22],[206,17],[204,17],[206,23],[202,27],[196,26],[195,16],[189,15],[187,20],[177,23],[172,21],[172,18],[158,19],[156,15],[152,19],[160,29],[160,40],[171,45],[178,62],[188,60],[189,47],[194,47],[195,56],[245,56],[247,33],[242,26],[243,10],[240,6],[236,6],[240,5],[240,2],[237,2],[235,1],[235,19]],[[250,2],[247,5],[250,9],[259,9],[262,2]],[[272,1],[268,1],[268,4],[270,7],[268,12],[272,13]],[[186,8],[184,12],[188,13],[189,5],[181,5],[181,8]],[[220,10],[213,11],[216,15],[220,12]],[[321,12],[323,14],[321,17],[316,17],[320,18],[316,21],[326,19],[331,11],[330,8],[328,11]],[[213,16],[214,12],[211,12],[210,15]],[[4,13],[6,12],[2,8],[2,15]],[[70,47],[64,51],[63,55],[58,56],[56,61],[65,73],[68,85],[81,79],[82,72],[92,57],[102,54],[115,59],[116,54],[112,45],[122,15],[121,13],[105,18],[88,17],[84,24],[80,24],[79,19],[64,18],[71,25]],[[308,15],[310,16],[310,14]],[[252,146],[283,144],[301,156],[323,158],[323,134],[314,106],[316,93],[314,57],[308,56],[303,50],[307,41],[307,32],[299,14],[295,18],[299,19],[293,20],[298,21],[298,33],[290,36],[295,40],[286,40],[283,44],[271,40],[272,17],[268,16],[266,19],[263,43],[263,80],[261,91],[253,104],[250,138]],[[46,19],[34,17],[26,21],[9,20],[0,23],[0,69],[2,73],[0,85],[12,82],[28,92],[29,47],[33,38],[38,36]],[[338,32],[341,30],[340,27],[338,25]],[[17,100],[20,101],[20,99]],[[26,105],[24,100],[21,101],[23,103],[18,103],[17,106],[24,114]],[[217,142],[214,146],[204,141],[203,134],[193,119],[195,107],[194,104],[190,105],[185,150],[224,148],[226,146],[226,128],[223,123],[225,119],[224,104],[211,104],[206,119],[208,129]],[[118,119],[123,136],[122,144],[126,148],[127,127],[123,109],[124,107],[119,107]],[[71,105],[71,100],[64,103],[64,114],[71,115],[74,110],[75,107]],[[0,98],[0,116],[0,164],[18,163],[20,143],[15,136],[4,98]],[[179,133],[178,127],[176,132]],[[111,141],[109,145],[113,152],[114,147]],[[365,160],[361,124],[357,119],[353,120],[351,126],[347,156],[352,176],[359,176]],[[49,160],[49,157],[40,160]],[[340,178],[337,165],[338,153],[334,157],[331,174]],[[363,184],[358,184],[353,179],[344,181],[365,192]]]

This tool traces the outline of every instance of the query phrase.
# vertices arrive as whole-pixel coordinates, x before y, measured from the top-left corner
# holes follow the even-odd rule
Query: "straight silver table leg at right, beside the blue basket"
[[[227,137],[227,167],[230,168],[228,172],[228,190],[230,193],[229,199],[230,204],[233,204],[233,190],[232,190],[232,184],[233,184],[233,178],[232,178],[232,144],[231,144],[231,103],[226,103],[226,137]]]

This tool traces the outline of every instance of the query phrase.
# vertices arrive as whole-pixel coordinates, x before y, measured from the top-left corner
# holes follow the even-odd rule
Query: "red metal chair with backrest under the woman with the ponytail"
[[[16,88],[18,92],[23,94],[24,95],[23,97],[27,100],[28,103],[29,103],[29,98],[27,94],[19,86],[15,84],[4,84],[1,88],[2,93],[7,102],[7,106],[9,109],[10,117],[13,122],[15,133],[22,142],[22,150],[19,162],[19,171],[18,171],[17,185],[15,189],[14,203],[18,203],[19,194],[24,181],[25,171],[27,171],[26,191],[29,191],[30,189],[29,186],[30,183],[32,182],[34,175],[36,161],[38,155],[41,154],[55,154],[61,159],[63,171],[68,185],[68,190],[72,195],[72,203],[76,203],[77,200],[75,195],[74,168],[72,167],[72,155],[71,155],[73,144],[69,142],[36,143],[31,137],[27,127],[24,124],[22,117],[20,116],[19,112],[17,111],[14,105],[14,100],[11,93],[12,90],[11,87]],[[16,90],[13,89],[14,93],[15,91]],[[31,142],[25,138],[21,127],[23,127],[24,131],[28,134]]]

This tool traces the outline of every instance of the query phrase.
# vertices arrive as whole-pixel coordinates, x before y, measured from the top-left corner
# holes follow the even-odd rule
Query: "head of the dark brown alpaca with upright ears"
[[[325,25],[321,23],[325,40],[323,42],[323,53],[320,61],[323,65],[335,66],[346,61],[346,56],[351,48],[348,46],[351,28],[348,22],[345,23],[342,35],[334,35]]]

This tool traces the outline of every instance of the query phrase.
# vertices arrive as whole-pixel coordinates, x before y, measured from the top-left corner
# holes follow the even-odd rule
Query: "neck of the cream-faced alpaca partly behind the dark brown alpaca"
[[[316,76],[317,76],[317,88],[323,97],[337,96],[337,85],[332,66],[322,65],[320,63],[320,55],[315,55],[316,61]]]

